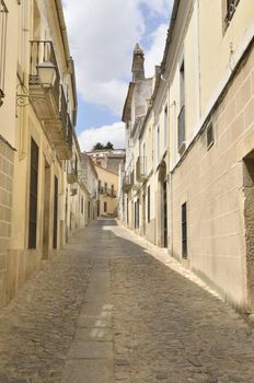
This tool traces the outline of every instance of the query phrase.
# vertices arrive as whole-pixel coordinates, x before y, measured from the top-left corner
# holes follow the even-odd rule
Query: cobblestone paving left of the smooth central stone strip
[[[89,234],[77,232],[68,249],[0,310],[0,383],[60,381],[88,285]]]

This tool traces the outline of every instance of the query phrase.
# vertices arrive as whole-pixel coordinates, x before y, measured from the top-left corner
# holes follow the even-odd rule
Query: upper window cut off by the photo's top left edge
[[[7,50],[7,18],[8,9],[3,0],[0,0],[0,106],[4,97],[5,50]]]

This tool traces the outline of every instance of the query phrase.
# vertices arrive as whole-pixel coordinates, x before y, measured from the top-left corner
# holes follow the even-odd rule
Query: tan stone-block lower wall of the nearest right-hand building
[[[254,150],[254,48],[172,175],[172,252],[182,259],[182,206],[187,206],[189,267],[239,309],[246,309],[246,228],[243,163]],[[254,204],[254,195],[252,195]],[[253,217],[254,220],[254,217]],[[254,290],[254,285],[253,285]]]

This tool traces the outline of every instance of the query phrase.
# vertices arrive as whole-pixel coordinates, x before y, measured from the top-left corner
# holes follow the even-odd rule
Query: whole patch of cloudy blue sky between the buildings
[[[160,65],[173,0],[62,0],[78,89],[81,150],[94,143],[125,147],[122,123],[132,51],[145,51],[146,77]]]

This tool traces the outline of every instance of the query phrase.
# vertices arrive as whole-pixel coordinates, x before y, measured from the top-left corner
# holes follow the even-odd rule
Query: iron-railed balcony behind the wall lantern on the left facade
[[[54,85],[42,86],[38,66],[51,62],[56,69]],[[51,42],[31,42],[30,59],[30,101],[35,114],[43,123],[48,140],[56,149],[59,160],[69,160],[72,148],[72,124],[60,85],[60,74]]]

